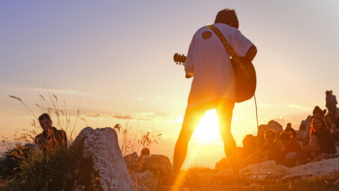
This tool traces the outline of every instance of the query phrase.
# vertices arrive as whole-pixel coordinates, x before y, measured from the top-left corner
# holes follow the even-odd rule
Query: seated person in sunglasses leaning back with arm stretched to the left
[[[266,155],[267,161],[274,160],[276,164],[279,164],[280,162],[284,161],[284,157],[280,146],[276,142],[274,142],[276,140],[276,134],[274,130],[272,129],[266,130],[264,136],[267,144],[262,146],[259,151],[253,153],[251,156],[246,158],[243,162],[245,166],[249,164],[259,163],[259,161],[264,161],[262,158],[265,157]]]

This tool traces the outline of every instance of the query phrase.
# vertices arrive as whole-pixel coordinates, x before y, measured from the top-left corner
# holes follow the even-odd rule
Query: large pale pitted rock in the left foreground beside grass
[[[135,190],[121,154],[117,132],[114,129],[86,127],[81,130],[74,142],[81,141],[82,138],[84,138],[84,157],[92,157],[94,169],[99,172],[99,181],[103,190]]]

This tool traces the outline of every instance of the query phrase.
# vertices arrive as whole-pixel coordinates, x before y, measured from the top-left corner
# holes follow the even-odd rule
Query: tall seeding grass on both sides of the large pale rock
[[[47,90],[48,92],[48,90]],[[47,148],[46,150],[32,149],[35,136],[41,132],[39,121],[33,111],[20,99],[15,96],[9,96],[20,101],[28,115],[31,117],[34,126],[32,130],[22,129],[25,133],[19,135],[19,129],[13,139],[3,138],[0,149],[0,190],[4,191],[30,191],[30,190],[103,190],[100,185],[100,176],[93,167],[93,159],[83,156],[82,138],[73,139],[77,135],[75,130],[79,120],[86,121],[77,115],[71,114],[66,110],[66,102],[58,103],[58,98],[49,94],[50,101],[39,95],[40,104],[35,104],[41,109],[42,113],[51,116],[53,126],[57,129],[63,129],[68,137],[68,144],[57,148]],[[62,106],[62,108],[59,108]],[[75,117],[73,123],[71,116]],[[72,118],[73,119],[73,118]],[[129,129],[126,121],[126,127],[123,129],[120,124],[115,125],[114,129],[122,134],[121,152],[123,155],[129,155],[138,152],[140,147],[149,148],[153,143],[160,140],[159,134],[151,136],[146,132],[140,139],[137,138],[138,128],[133,140],[128,138]],[[78,130],[79,132],[79,130]],[[140,157],[134,168],[128,168],[129,175],[136,186],[139,178],[134,179],[133,175],[141,172],[144,158]],[[158,177],[159,178],[159,177]]]

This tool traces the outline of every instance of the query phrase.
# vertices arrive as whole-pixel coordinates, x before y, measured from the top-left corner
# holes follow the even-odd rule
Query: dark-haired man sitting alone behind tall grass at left
[[[56,147],[67,144],[65,131],[53,127],[51,117],[48,114],[42,114],[38,120],[43,131],[35,137],[34,142],[40,149],[53,150]]]

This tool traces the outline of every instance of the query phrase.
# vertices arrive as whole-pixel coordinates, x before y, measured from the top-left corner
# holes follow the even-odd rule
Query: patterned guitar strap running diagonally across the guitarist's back
[[[220,39],[222,42],[222,45],[224,45],[226,51],[228,54],[231,55],[232,59],[235,61],[237,64],[238,69],[242,70],[243,74],[246,76],[246,78],[249,80],[251,78],[251,74],[248,72],[244,64],[242,63],[240,57],[234,52],[233,48],[231,45],[227,42],[225,36],[221,33],[221,31],[216,28],[214,25],[207,25]],[[234,69],[234,66],[233,66]]]

